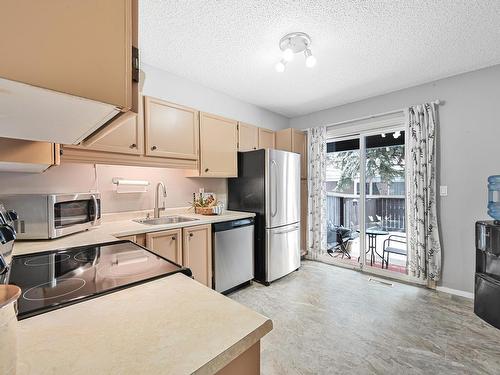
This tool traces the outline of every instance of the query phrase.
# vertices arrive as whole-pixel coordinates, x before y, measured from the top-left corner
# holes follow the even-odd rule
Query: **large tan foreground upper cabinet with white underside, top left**
[[[137,0],[6,0],[0,136],[78,144],[137,112]]]

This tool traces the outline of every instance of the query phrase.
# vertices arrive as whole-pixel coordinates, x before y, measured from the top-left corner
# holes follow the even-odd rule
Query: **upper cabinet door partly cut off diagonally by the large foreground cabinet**
[[[106,125],[103,130],[90,136],[75,148],[142,155],[144,153],[144,125],[140,110],[139,114],[134,112],[122,113],[110,124]]]

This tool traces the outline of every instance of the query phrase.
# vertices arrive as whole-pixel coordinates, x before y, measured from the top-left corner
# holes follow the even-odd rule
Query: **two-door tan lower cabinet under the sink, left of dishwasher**
[[[212,288],[212,226],[210,224],[119,238],[145,246],[161,257],[190,268],[196,281]]]

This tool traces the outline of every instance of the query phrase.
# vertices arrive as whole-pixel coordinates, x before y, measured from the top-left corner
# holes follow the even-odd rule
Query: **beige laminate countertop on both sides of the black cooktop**
[[[14,253],[251,216],[226,212],[167,226],[109,221],[53,241],[17,242]],[[214,374],[272,326],[265,316],[175,274],[18,322],[17,373]]]

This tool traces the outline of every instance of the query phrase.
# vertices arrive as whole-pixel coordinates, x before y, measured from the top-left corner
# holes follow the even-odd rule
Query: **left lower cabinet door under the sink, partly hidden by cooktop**
[[[146,233],[146,247],[159,256],[182,264],[181,229]]]

